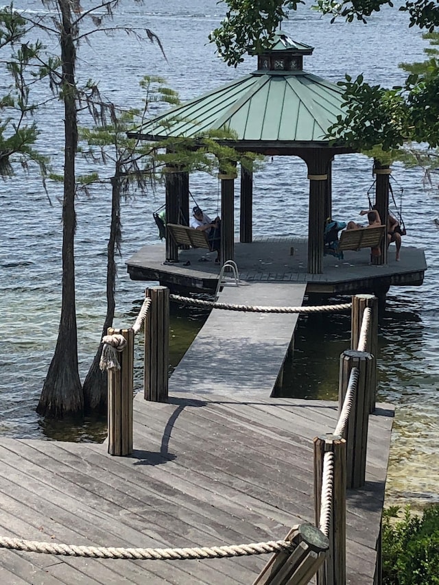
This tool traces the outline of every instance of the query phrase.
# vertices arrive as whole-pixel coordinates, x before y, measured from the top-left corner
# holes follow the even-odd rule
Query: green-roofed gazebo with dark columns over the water
[[[332,145],[328,129],[344,115],[341,89],[303,70],[303,57],[313,47],[297,43],[278,32],[270,49],[258,56],[257,71],[217,88],[147,121],[128,136],[148,141],[196,139],[209,130],[229,130],[233,140],[223,140],[238,153],[298,156],[307,165],[309,180],[309,274],[321,274],[324,222],[331,217],[331,163],[335,155],[355,152],[346,145]],[[243,155],[244,156],[244,155]],[[166,169],[166,217],[178,223],[180,209],[189,217],[189,173],[177,165]],[[384,222],[388,217],[389,167],[375,163],[376,204]],[[241,242],[252,242],[252,169],[241,165]],[[234,189],[237,174],[220,172],[222,262],[235,259]],[[178,260],[178,248],[169,234],[166,260]],[[387,246],[375,263],[387,262]]]

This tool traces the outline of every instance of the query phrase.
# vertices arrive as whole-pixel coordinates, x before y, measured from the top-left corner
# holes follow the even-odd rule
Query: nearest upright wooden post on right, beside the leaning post
[[[314,510],[320,525],[324,454],[333,453],[333,488],[331,499],[327,558],[317,573],[317,585],[346,584],[346,440],[337,435],[314,438]],[[323,527],[320,527],[322,530]]]

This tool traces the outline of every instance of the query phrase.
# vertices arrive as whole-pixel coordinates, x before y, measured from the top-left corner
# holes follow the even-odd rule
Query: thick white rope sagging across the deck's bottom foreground
[[[117,547],[85,547],[64,545],[56,542],[36,542],[0,536],[0,548],[46,553],[51,555],[115,558],[135,560],[190,560],[206,558],[226,558],[265,553],[292,551],[296,545],[286,540],[270,540],[269,542],[250,542],[247,545],[226,545],[221,547],[193,547],[184,549],[132,549]]]

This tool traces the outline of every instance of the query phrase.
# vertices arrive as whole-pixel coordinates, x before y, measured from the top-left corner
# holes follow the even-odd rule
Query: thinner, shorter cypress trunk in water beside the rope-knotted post
[[[115,317],[115,285],[117,274],[115,254],[120,250],[121,243],[121,183],[118,178],[120,172],[120,165],[117,163],[115,176],[111,180],[111,222],[110,237],[108,238],[107,246],[107,313],[104,320],[104,326],[102,328],[102,336],[107,334],[107,329],[108,327],[112,326],[112,320]],[[107,409],[107,372],[102,372],[99,369],[101,353],[102,342],[97,348],[93,363],[91,364],[90,370],[88,370],[84,385],[82,386],[86,414],[91,414],[91,412],[104,414]]]

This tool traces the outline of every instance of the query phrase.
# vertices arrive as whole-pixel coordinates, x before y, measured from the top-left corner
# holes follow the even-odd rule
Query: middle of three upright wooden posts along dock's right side
[[[338,391],[339,414],[342,411],[344,396],[348,390],[351,370],[357,368],[358,381],[354,393],[351,414],[344,438],[346,452],[346,486],[361,488],[366,480],[366,449],[368,442],[368,420],[370,405],[370,377],[372,376],[372,356],[364,351],[346,350],[340,356],[340,381]]]

